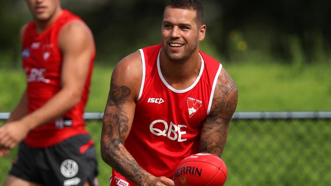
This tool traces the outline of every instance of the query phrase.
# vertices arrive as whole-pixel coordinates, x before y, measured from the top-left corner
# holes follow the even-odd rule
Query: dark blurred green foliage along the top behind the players
[[[167,0],[61,2],[90,26],[99,63],[115,65],[127,54],[160,42],[162,13]],[[276,61],[296,67],[331,63],[327,1],[305,4],[283,0],[271,6],[262,0],[202,3],[207,25],[207,38],[202,48],[211,46],[212,51],[226,61]],[[3,28],[0,30],[0,68],[19,67],[19,28],[31,19],[24,1],[3,2],[0,7]],[[217,55],[212,56],[218,58]],[[2,60],[3,56],[6,60]]]

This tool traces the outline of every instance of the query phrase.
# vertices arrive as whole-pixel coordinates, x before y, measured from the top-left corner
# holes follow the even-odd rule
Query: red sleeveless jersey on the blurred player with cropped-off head
[[[27,82],[29,113],[43,106],[61,89],[62,53],[58,46],[59,34],[70,21],[82,21],[67,10],[43,33],[36,32],[35,22],[27,24],[22,40],[23,68]],[[87,134],[82,118],[88,100],[95,52],[91,55],[89,74],[80,102],[63,117],[33,129],[25,138],[32,147],[46,147],[57,144],[77,134]]]

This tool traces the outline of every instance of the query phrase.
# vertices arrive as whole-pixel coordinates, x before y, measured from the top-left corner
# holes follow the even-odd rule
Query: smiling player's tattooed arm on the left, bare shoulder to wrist
[[[140,60],[137,61],[136,58]],[[102,118],[101,157],[121,175],[143,185],[151,174],[140,167],[124,147],[132,127],[135,100],[139,95],[142,79],[142,67],[139,64],[140,54],[135,52],[122,59],[113,71]]]

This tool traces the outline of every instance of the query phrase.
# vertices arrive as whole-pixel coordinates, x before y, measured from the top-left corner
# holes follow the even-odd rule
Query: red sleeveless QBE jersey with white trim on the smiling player
[[[177,164],[199,152],[202,123],[209,114],[222,65],[199,51],[198,78],[188,88],[177,90],[162,76],[160,50],[161,45],[140,49],[143,80],[124,145],[146,171],[172,179]],[[111,185],[123,181],[135,185],[113,170]]]

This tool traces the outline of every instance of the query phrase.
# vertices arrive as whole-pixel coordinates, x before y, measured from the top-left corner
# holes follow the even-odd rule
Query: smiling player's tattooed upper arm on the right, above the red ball
[[[237,87],[225,69],[222,69],[217,79],[211,111],[203,122],[200,151],[218,157],[222,155],[237,101]]]

